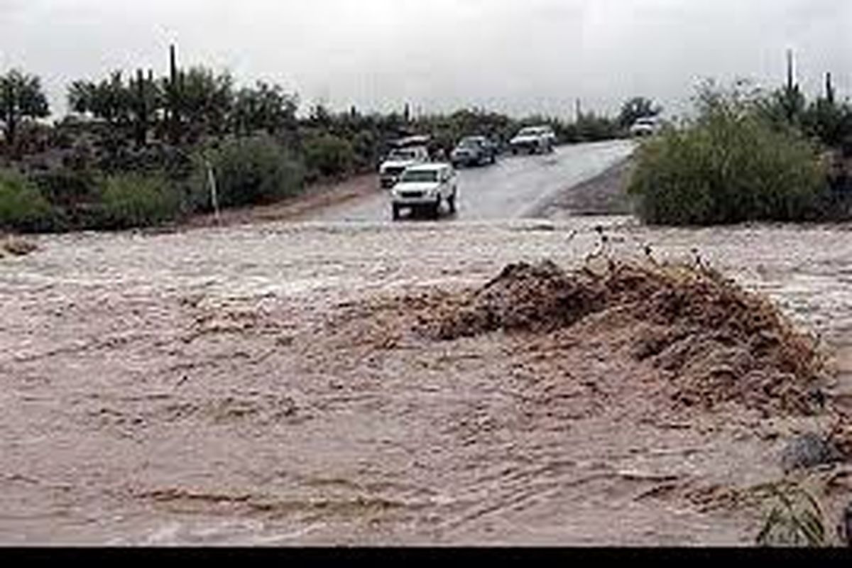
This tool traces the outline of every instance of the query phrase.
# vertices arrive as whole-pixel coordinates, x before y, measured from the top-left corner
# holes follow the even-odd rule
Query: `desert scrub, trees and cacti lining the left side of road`
[[[216,206],[269,204],[375,171],[389,142],[406,135],[430,135],[431,150],[448,153],[464,135],[505,144],[540,123],[560,143],[626,134],[623,117],[592,112],[571,122],[481,109],[413,117],[407,105],[388,114],[324,106],[300,113],[297,95],[279,85],[182,69],[174,50],[166,77],[139,70],[81,79],[67,100],[72,114],[47,125],[39,77],[0,76],[0,231],[146,227]]]

